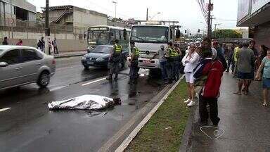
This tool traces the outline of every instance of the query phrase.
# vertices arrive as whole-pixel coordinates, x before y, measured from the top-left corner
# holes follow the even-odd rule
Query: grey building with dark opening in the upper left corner
[[[0,25],[16,26],[16,20],[36,21],[36,6],[26,0],[0,0]]]

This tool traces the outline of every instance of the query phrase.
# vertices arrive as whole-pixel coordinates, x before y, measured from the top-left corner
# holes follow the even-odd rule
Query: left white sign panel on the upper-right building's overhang
[[[252,0],[252,1],[256,1],[256,0]],[[267,0],[267,1],[270,1],[270,0]],[[250,0],[238,0],[237,21],[240,21],[243,18],[245,18],[245,16],[249,14],[249,10],[250,10]]]

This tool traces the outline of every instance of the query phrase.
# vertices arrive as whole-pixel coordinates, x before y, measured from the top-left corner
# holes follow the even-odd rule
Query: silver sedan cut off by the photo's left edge
[[[56,72],[56,61],[29,46],[0,46],[0,90],[36,82],[46,87]]]

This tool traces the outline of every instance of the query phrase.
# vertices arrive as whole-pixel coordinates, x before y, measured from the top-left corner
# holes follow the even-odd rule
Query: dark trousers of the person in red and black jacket
[[[207,122],[208,120],[207,103],[210,106],[210,119],[213,125],[217,125],[220,120],[218,117],[217,98],[206,98],[202,95],[199,97],[200,122]]]

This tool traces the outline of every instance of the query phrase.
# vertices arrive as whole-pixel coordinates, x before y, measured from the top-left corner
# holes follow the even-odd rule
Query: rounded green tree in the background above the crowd
[[[213,32],[212,36],[219,39],[219,38],[242,38],[242,34],[237,32],[236,30],[224,29],[224,30],[217,30],[216,34]]]

